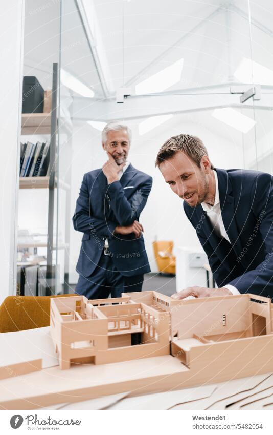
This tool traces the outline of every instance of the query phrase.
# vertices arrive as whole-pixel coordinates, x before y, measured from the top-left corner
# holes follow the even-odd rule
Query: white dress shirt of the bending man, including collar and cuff
[[[219,198],[219,188],[218,188],[218,177],[217,172],[213,171],[214,177],[215,177],[215,201],[214,205],[210,205],[207,202],[202,202],[201,206],[204,212],[207,212],[207,216],[211,221],[213,231],[217,234],[219,237],[224,237],[229,243],[231,243],[229,236],[227,235],[221,215],[221,208],[220,208],[220,198]],[[237,290],[236,287],[233,285],[227,284],[224,286],[224,288],[227,288],[231,291],[233,295],[240,295],[240,292]]]

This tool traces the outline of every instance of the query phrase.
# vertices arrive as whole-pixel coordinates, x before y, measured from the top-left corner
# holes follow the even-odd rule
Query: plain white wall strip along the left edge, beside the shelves
[[[10,0],[1,5],[0,119],[0,302],[16,292],[15,227],[18,187],[18,137],[20,133],[22,85],[22,34],[24,1]],[[14,280],[15,279],[15,280]],[[16,293],[15,293],[16,294]]]

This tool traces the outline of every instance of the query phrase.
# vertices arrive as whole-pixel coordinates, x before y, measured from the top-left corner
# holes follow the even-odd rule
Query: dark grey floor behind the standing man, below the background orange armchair
[[[74,293],[76,284],[69,285],[69,293]],[[145,274],[142,291],[147,292],[154,290],[163,295],[171,296],[175,293],[175,276],[160,274]]]

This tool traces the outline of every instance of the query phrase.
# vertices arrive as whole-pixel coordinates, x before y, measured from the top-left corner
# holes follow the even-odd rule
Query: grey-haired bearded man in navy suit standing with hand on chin
[[[131,131],[109,122],[102,131],[108,160],[102,169],[84,174],[73,216],[83,233],[76,270],[76,292],[88,299],[120,297],[141,291],[150,272],[139,218],[152,178],[127,161]]]

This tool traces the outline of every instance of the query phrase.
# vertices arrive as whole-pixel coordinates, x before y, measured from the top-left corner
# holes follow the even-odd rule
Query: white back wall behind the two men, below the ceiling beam
[[[196,114],[191,118],[176,115],[171,122],[158,127],[144,136],[139,136],[138,134],[137,126],[139,121],[128,123],[133,131],[129,160],[135,168],[153,177],[153,187],[140,218],[145,230],[146,251],[153,272],[157,271],[152,251],[152,242],[155,238],[157,240],[173,240],[174,254],[176,254],[178,246],[190,246],[200,250],[200,243],[196,232],[184,214],[183,201],[171,191],[160,171],[154,166],[157,151],[164,141],[170,136],[182,132],[194,134],[201,137],[207,145],[211,160],[216,167],[226,169],[243,167],[240,140],[234,140],[232,133],[229,133],[229,136],[226,134],[226,137],[213,133],[205,126],[208,123],[206,117],[208,117],[208,114],[205,113]],[[75,210],[75,203],[83,174],[93,169],[101,168],[106,160],[105,153],[101,147],[100,137],[101,133],[90,127],[86,122],[75,122],[73,131],[73,159],[71,163],[71,217]],[[75,266],[80,251],[81,236],[81,233],[73,229],[71,222],[70,283],[75,283],[78,279]]]

